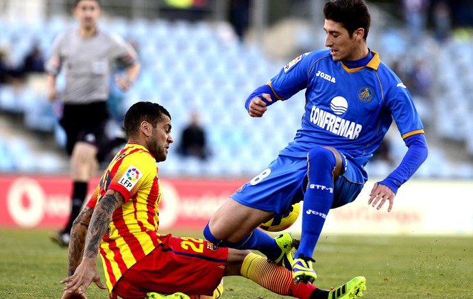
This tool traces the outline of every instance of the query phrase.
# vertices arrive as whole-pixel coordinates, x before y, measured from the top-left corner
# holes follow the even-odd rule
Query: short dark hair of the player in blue
[[[365,29],[365,40],[368,36],[371,15],[365,0],[330,0],[325,3],[324,17],[341,23],[350,36],[359,28]]]

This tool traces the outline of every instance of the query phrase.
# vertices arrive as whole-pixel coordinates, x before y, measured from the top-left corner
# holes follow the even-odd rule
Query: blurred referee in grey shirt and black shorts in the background
[[[78,27],[66,30],[53,43],[46,62],[49,100],[58,98],[56,78],[64,71],[65,86],[60,100],[63,112],[60,124],[66,132],[66,151],[70,156],[73,180],[71,214],[60,232],[53,236],[61,246],[68,246],[72,223],[79,215],[88,191],[88,181],[99,169],[114,145],[124,139],[113,139],[106,133],[109,112],[106,104],[112,64],[125,67],[125,75],[115,82],[127,91],[138,77],[140,63],[133,47],[117,34],[97,27],[101,15],[98,0],[76,0],[73,10]]]

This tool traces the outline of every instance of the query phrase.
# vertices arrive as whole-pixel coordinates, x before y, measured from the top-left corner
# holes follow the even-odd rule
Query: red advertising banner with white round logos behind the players
[[[161,229],[204,228],[217,208],[246,182],[189,178],[160,181]],[[71,188],[68,176],[0,176],[0,226],[64,226],[70,213]],[[93,189],[92,181],[90,194]]]

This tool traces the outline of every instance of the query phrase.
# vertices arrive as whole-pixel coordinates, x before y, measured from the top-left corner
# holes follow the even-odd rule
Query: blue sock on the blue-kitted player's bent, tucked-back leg
[[[239,242],[228,242],[215,238],[212,235],[212,232],[210,232],[210,228],[208,228],[207,224],[204,228],[204,237],[208,241],[221,247],[258,250],[259,252],[265,254],[265,256],[267,256],[267,258],[271,261],[278,259],[281,254],[281,250],[276,243],[276,240],[259,228],[256,228],[256,230],[250,232],[250,234],[241,239]]]

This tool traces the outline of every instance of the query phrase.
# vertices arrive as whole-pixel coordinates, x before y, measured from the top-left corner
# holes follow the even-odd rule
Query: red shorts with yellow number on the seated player
[[[112,298],[145,298],[148,291],[213,294],[223,277],[228,248],[192,237],[160,237],[162,243],[117,281]]]

